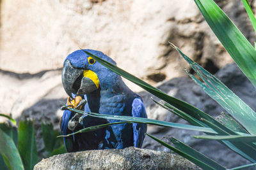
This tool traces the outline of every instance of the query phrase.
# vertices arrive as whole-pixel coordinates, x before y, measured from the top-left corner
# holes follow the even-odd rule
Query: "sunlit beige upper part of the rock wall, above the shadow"
[[[223,9],[255,39],[241,1],[225,2]],[[192,0],[8,0],[0,16],[0,69],[15,73],[61,68],[82,47],[108,54],[140,78],[168,80],[184,75],[185,66],[168,41],[215,72],[232,61]]]

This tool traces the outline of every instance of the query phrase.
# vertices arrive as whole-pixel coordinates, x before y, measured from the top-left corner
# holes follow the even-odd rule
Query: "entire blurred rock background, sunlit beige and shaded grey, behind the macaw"
[[[216,2],[253,43],[255,32],[242,2]],[[254,1],[252,6],[254,10]],[[192,0],[1,0],[0,113],[12,114],[17,120],[34,118],[36,136],[41,134],[41,122],[52,122],[58,129],[59,108],[67,99],[61,67],[68,53],[81,47],[100,50],[129,73],[219,115],[222,108],[186,76],[186,63],[168,41],[216,73],[255,110],[254,87],[230,64],[233,60]],[[185,123],[152,103],[147,92],[124,81],[143,97],[149,118]],[[148,132],[159,138],[174,136],[227,166],[246,162],[218,143],[191,138],[197,132],[155,126],[148,126]],[[37,143],[38,150],[44,152],[42,141]],[[164,150],[148,138],[143,147]]]

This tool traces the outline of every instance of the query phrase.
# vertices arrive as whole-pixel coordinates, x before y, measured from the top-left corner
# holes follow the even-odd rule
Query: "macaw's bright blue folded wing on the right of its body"
[[[141,99],[136,98],[132,102],[132,117],[147,118],[145,106]],[[134,146],[141,148],[145,132],[147,132],[147,124],[132,124]]]

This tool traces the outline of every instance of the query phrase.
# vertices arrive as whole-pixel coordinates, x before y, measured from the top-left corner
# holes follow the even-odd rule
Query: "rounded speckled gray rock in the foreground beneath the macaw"
[[[43,159],[40,169],[200,169],[188,160],[156,150],[125,148],[124,150],[88,150],[65,153]]]

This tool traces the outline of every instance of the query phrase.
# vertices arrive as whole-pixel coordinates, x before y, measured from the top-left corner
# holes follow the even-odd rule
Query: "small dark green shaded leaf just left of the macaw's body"
[[[51,153],[56,143],[56,136],[54,134],[53,125],[42,123],[42,133],[43,133],[45,150]]]

